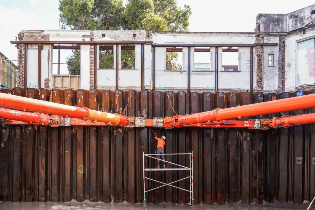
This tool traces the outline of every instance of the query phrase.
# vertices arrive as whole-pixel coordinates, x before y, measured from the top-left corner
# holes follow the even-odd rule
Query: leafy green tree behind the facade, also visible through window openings
[[[189,5],[177,6],[176,0],[60,0],[62,28],[73,30],[146,30],[187,31],[192,10]],[[76,62],[77,53],[67,62]],[[100,67],[113,68],[112,51],[102,51]],[[123,50],[122,68],[135,68],[135,51]],[[170,70],[180,70],[178,53],[168,53]],[[73,72],[68,65],[69,73]]]

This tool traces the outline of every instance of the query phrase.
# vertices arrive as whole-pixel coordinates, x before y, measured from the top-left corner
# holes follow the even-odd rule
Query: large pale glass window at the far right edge
[[[315,39],[297,44],[297,86],[315,83]]]

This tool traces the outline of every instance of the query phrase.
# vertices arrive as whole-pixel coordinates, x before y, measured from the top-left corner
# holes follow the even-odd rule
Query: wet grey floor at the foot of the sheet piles
[[[226,205],[195,205],[196,210],[284,210],[284,209],[307,209],[309,203],[304,205],[296,205],[292,203],[266,203],[266,204],[226,204]],[[147,210],[190,210],[189,205],[168,205],[164,204],[149,204]],[[315,207],[310,208],[313,210]],[[142,210],[143,204],[129,204],[129,203],[102,203],[102,202],[1,202],[0,209],[6,210]]]

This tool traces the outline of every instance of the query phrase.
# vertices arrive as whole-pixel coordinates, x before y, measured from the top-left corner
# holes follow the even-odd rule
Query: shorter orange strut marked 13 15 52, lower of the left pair
[[[36,125],[49,125],[50,122],[50,117],[48,114],[22,112],[3,108],[0,108],[0,118],[23,121]]]

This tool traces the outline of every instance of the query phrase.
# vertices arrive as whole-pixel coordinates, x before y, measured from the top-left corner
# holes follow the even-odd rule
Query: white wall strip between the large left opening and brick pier
[[[80,50],[80,84],[81,89],[90,89],[90,46],[88,44],[81,44]]]

